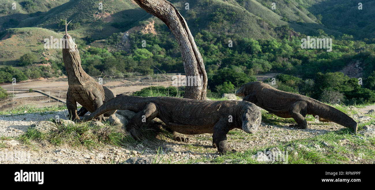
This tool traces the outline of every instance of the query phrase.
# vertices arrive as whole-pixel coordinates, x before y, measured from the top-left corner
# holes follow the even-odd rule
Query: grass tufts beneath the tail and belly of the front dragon
[[[54,118],[48,121],[54,122]],[[142,142],[135,140],[122,126],[102,122],[104,126],[93,125],[93,121],[78,124],[55,124],[57,130],[42,133],[35,128],[28,128],[27,132],[18,137],[25,145],[33,145],[40,142],[48,142],[55,146],[68,144],[72,147],[83,147],[87,149],[99,148],[104,145],[137,145]],[[141,133],[148,140],[171,138],[172,134],[166,130],[159,130],[155,124],[144,124]]]

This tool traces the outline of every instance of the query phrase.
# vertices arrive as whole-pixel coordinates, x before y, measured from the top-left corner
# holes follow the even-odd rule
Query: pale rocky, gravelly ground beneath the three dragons
[[[322,123],[310,117],[308,119],[308,128],[300,130],[288,127],[290,124],[293,124],[293,119],[281,119],[264,112],[264,122],[262,122],[256,134],[247,134],[237,129],[229,131],[228,142],[232,148],[238,151],[238,153],[231,156],[218,155],[217,149],[211,146],[212,134],[187,135],[189,142],[177,142],[169,138],[168,134],[165,134],[165,131],[160,129],[160,126],[163,124],[157,120],[153,122],[153,126],[150,129],[153,132],[150,133],[147,140],[142,142],[136,142],[132,139],[121,143],[121,146],[111,145],[111,143],[101,143],[99,146],[90,148],[89,146],[85,146],[85,143],[89,142],[84,140],[79,141],[81,143],[78,145],[74,143],[75,141],[67,140],[59,145],[54,145],[52,143],[53,139],[49,139],[56,137],[53,133],[54,131],[61,130],[64,126],[65,129],[68,128],[68,126],[75,126],[74,123],[72,124],[69,123],[69,121],[62,120],[66,119],[67,110],[42,113],[27,113],[27,111],[24,111],[25,113],[0,115],[0,152],[4,153],[0,154],[4,155],[0,157],[0,163],[105,164],[272,162],[275,160],[272,160],[272,158],[269,159],[266,155],[260,152],[257,153],[257,151],[263,151],[267,148],[267,151],[280,152],[282,148],[279,149],[278,147],[285,146],[285,150],[290,151],[289,154],[294,156],[298,154],[300,154],[300,156],[305,155],[305,153],[312,154],[311,151],[314,151],[316,154],[326,155],[328,154],[326,149],[332,148],[340,150],[345,148],[344,145],[358,146],[361,143],[365,143],[367,148],[369,148],[369,152],[366,154],[372,154],[372,151],[374,151],[374,142],[372,140],[366,141],[366,138],[373,138],[374,126],[370,125],[373,121],[373,117],[357,112],[358,109],[354,107],[351,109],[354,110],[351,113],[355,113],[351,114],[351,116],[364,126],[362,132],[359,131],[358,135],[345,134],[347,136],[344,136],[344,138],[339,137],[335,142],[325,142],[321,139],[326,138],[327,135],[344,133],[342,131],[347,130],[345,127],[332,122]],[[114,127],[115,130],[125,134],[126,131],[124,131],[121,126],[122,124],[126,125],[128,118],[133,114],[134,113],[130,111],[120,111],[117,112],[116,116],[108,118],[107,122],[104,122],[104,124],[92,122],[90,126],[100,126],[99,128],[102,131],[106,130],[105,127],[108,128],[108,126],[111,126]],[[55,124],[56,121],[52,118],[60,118],[60,124]],[[30,130],[31,128],[42,132],[41,134],[54,135],[45,137],[43,140],[35,140],[35,138],[32,138],[33,134],[28,131],[28,129]],[[20,138],[23,134],[28,134],[28,139],[31,140],[26,141]],[[90,134],[99,134],[99,132],[95,131]],[[357,139],[359,140],[358,142]],[[311,143],[304,144],[304,142]],[[306,152],[306,150],[308,150],[308,152]],[[304,151],[305,153],[303,153]],[[341,154],[341,152],[338,151],[338,154]],[[369,159],[363,159],[360,155],[362,155],[360,152],[352,152],[350,154],[343,153],[343,157],[345,157],[344,163],[374,163],[374,159],[371,156]]]

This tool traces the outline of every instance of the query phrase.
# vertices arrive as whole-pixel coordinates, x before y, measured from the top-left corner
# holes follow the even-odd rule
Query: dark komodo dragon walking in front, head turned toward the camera
[[[110,110],[136,112],[126,125],[126,131],[136,140],[144,139],[140,133],[142,122],[159,118],[174,136],[178,133],[213,133],[212,146],[216,148],[217,145],[220,154],[236,151],[231,150],[226,141],[229,130],[238,128],[246,133],[255,133],[262,119],[260,108],[246,101],[206,101],[119,94],[80,122],[90,121]]]

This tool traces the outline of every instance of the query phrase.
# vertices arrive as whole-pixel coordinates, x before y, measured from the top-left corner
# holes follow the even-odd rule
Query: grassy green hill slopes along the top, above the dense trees
[[[71,1],[2,1],[7,8],[0,11],[0,31],[10,27],[42,27],[62,31],[62,20],[72,20],[77,37],[99,40],[112,33],[124,32],[138,26],[150,15],[132,0],[102,1],[99,10],[95,0]],[[31,3],[30,3],[31,2]],[[363,1],[360,14],[354,2],[339,0],[281,0],[272,10],[271,0],[171,0],[187,20],[193,35],[201,30],[217,34],[238,34],[253,39],[278,38],[277,27],[288,25],[296,32],[316,34],[322,29],[328,35],[339,36],[343,31],[350,35],[359,32],[359,38],[374,32],[374,0]],[[189,10],[185,3],[189,3]],[[357,22],[351,22],[350,20]]]

